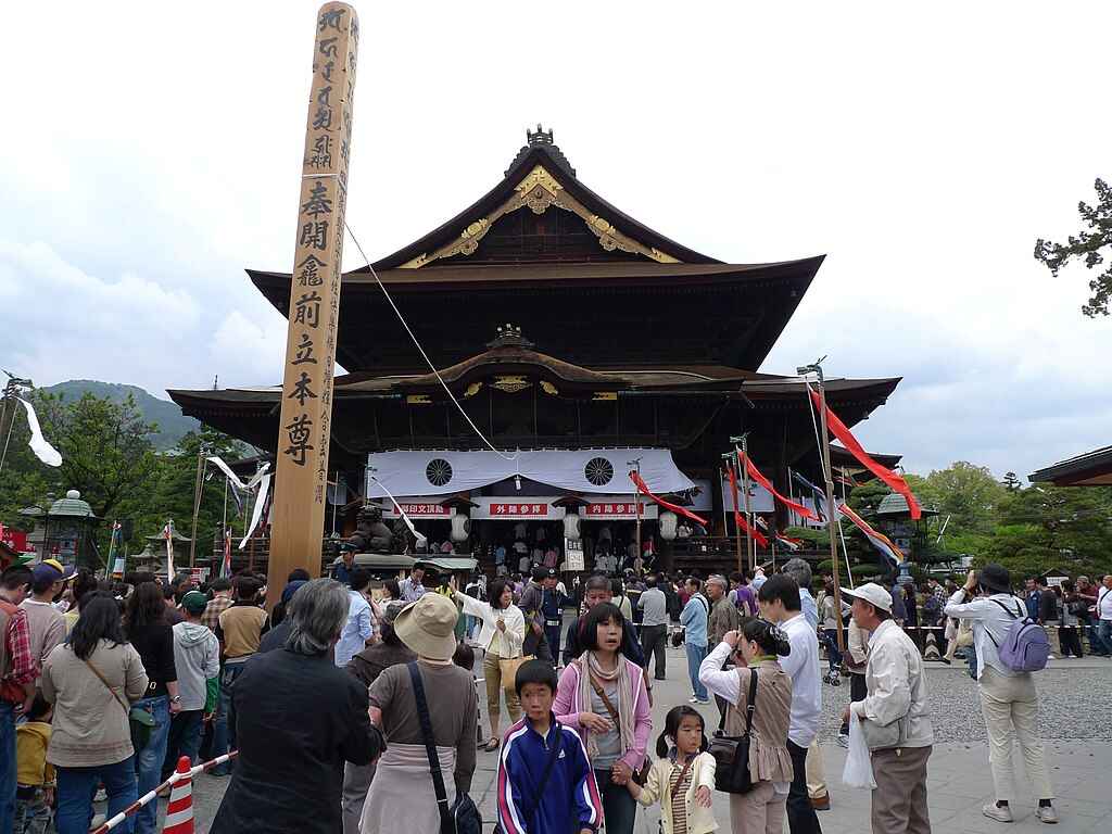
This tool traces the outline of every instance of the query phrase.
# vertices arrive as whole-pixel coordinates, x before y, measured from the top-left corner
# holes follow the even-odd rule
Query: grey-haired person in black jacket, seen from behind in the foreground
[[[348,593],[314,579],[297,595],[284,648],[247,662],[236,681],[239,758],[211,834],[336,834],[344,764],[385,748],[367,715],[367,687],[329,649],[347,622]]]

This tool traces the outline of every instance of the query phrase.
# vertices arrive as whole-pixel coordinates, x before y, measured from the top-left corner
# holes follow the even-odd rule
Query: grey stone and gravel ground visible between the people
[[[691,691],[686,683],[686,659],[682,649],[668,648],[668,679],[656,682],[654,691],[655,705],[653,724],[664,725],[664,715],[672,706],[687,703]],[[1043,727],[1046,749],[1052,768],[1051,781],[1059,795],[1055,802],[1061,824],[1051,828],[1043,826],[1034,817],[1035,801],[1030,798],[1030,788],[1021,782],[1017,786],[1020,798],[1013,805],[1016,822],[1003,825],[984,817],[981,806],[992,796],[992,775],[989,771],[989,755],[983,741],[983,723],[980,713],[969,714],[966,702],[959,693],[967,693],[974,687],[973,682],[964,674],[964,666],[944,667],[940,664],[929,664],[927,686],[932,691],[932,702],[936,704],[934,722],[937,727],[954,727],[961,733],[966,732],[970,741],[949,741],[935,746],[931,757],[927,776],[929,803],[931,823],[935,832],[945,834],[1024,834],[1045,827],[1054,834],[1090,834],[1112,833],[1112,724],[1109,723],[1112,702],[1103,699],[1094,704],[1098,709],[1092,715],[1062,715],[1055,708],[1054,696],[1058,685],[1051,683],[1054,678],[1049,673],[1040,679],[1043,694]],[[1112,684],[1112,662],[1101,658],[1084,661],[1053,661],[1050,672],[1059,673],[1062,696],[1066,699],[1065,687],[1070,681],[1085,681],[1083,686],[1090,687],[1091,679],[1099,681],[1103,686]],[[823,687],[825,725],[834,727],[841,704],[848,697],[848,686],[837,688]],[[947,703],[957,704],[956,709],[949,714],[937,714]],[[1072,703],[1072,702],[1071,702]],[[1088,706],[1088,702],[1085,702]],[[1080,707],[1079,707],[1080,708]],[[484,714],[486,712],[484,705]],[[717,709],[714,705],[701,707],[711,731],[717,725]],[[1045,716],[1050,716],[1048,719]],[[1073,722],[1080,722],[1075,724]],[[980,725],[980,727],[977,726]],[[1075,728],[1079,727],[1079,728]],[[1089,728],[1093,728],[1090,732]],[[505,729],[505,726],[503,727]],[[980,729],[980,734],[975,731]],[[826,732],[832,732],[827,729]],[[1066,735],[1063,735],[1066,734]],[[940,733],[949,738],[956,733],[951,729]],[[656,732],[651,738],[651,747],[655,745]],[[836,744],[823,745],[826,763],[826,776],[830,784],[832,808],[818,814],[825,834],[858,834],[870,831],[870,794],[866,791],[847,788],[842,785],[842,766],[845,751]],[[471,796],[479,806],[485,821],[484,832],[489,832],[495,820],[495,776],[497,754],[479,753],[478,767],[471,785]],[[1017,768],[1022,774],[1022,767]],[[227,778],[201,776],[195,786],[195,808],[197,814],[197,831],[207,832],[220,797],[228,784]],[[165,811],[165,801],[162,810]],[[723,794],[715,794],[715,815],[723,830],[729,828],[728,800]],[[638,834],[656,834],[658,814],[655,811],[638,812],[636,831]],[[417,833],[415,833],[417,834]]]

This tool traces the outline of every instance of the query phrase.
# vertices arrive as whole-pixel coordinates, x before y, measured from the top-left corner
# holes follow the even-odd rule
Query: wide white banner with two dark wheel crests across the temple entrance
[[[508,457],[508,456],[507,456]],[[657,495],[691,489],[667,449],[574,449],[518,451],[512,460],[493,451],[381,451],[367,456],[375,477],[395,495],[451,495],[520,476],[557,489],[614,494],[631,489],[631,460]],[[374,480],[370,498],[385,497]]]

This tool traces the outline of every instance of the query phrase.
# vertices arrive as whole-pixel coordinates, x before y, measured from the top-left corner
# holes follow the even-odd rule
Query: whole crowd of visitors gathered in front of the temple
[[[1016,596],[999,565],[962,587],[842,589],[844,654],[833,586],[813,596],[802,559],[768,576],[678,584],[592,575],[570,593],[544,565],[525,582],[475,577],[463,590],[417,568],[374,594],[369,574],[340,568],[342,582],[295,570],[269,615],[265,580],[248,573],[201,592],[149,574],[109,586],[50,562],[6,570],[0,831],[87,832],[98,792],[112,815],[178,756],[237,749],[217,772],[230,782],[212,832],[371,834],[399,821],[478,831],[469,792],[487,753],[497,756],[498,825],[510,834],[628,834],[652,805],[665,834],[709,832],[726,824],[715,820],[716,791],[728,794],[735,832],[778,833],[786,821],[810,834],[830,807],[823,681],[844,673],[844,732],[860,726],[876,784],[873,831],[929,832],[934,736],[912,600],[927,622],[955,624],[947,653],[971,635],[995,784],[984,814],[1014,818],[1014,737],[1036,816],[1054,823],[1037,666],[1016,661],[1033,638],[1014,624],[1063,624],[1069,613],[1078,639],[1063,635],[1062,652],[1078,656],[1089,627],[1098,654],[1112,636],[1112,576],[1059,590],[1036,580]],[[564,632],[568,605],[577,616]],[[669,635],[684,646],[691,698],[666,705],[654,727]],[[711,695],[714,733],[697,708]],[[156,816],[150,803],[119,830],[153,832]]]

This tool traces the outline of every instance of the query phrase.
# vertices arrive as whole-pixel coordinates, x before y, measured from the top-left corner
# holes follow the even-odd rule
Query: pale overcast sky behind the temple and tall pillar
[[[279,381],[285,319],[242,270],[291,267],[318,6],[0,11],[2,367],[162,397]],[[1088,270],[1032,258],[1112,177],[1112,4],[356,8],[348,221],[373,258],[486,192],[539,120],[693,249],[827,254],[762,370],[903,376],[857,433],[909,470],[1112,443],[1112,320],[1080,312]]]

